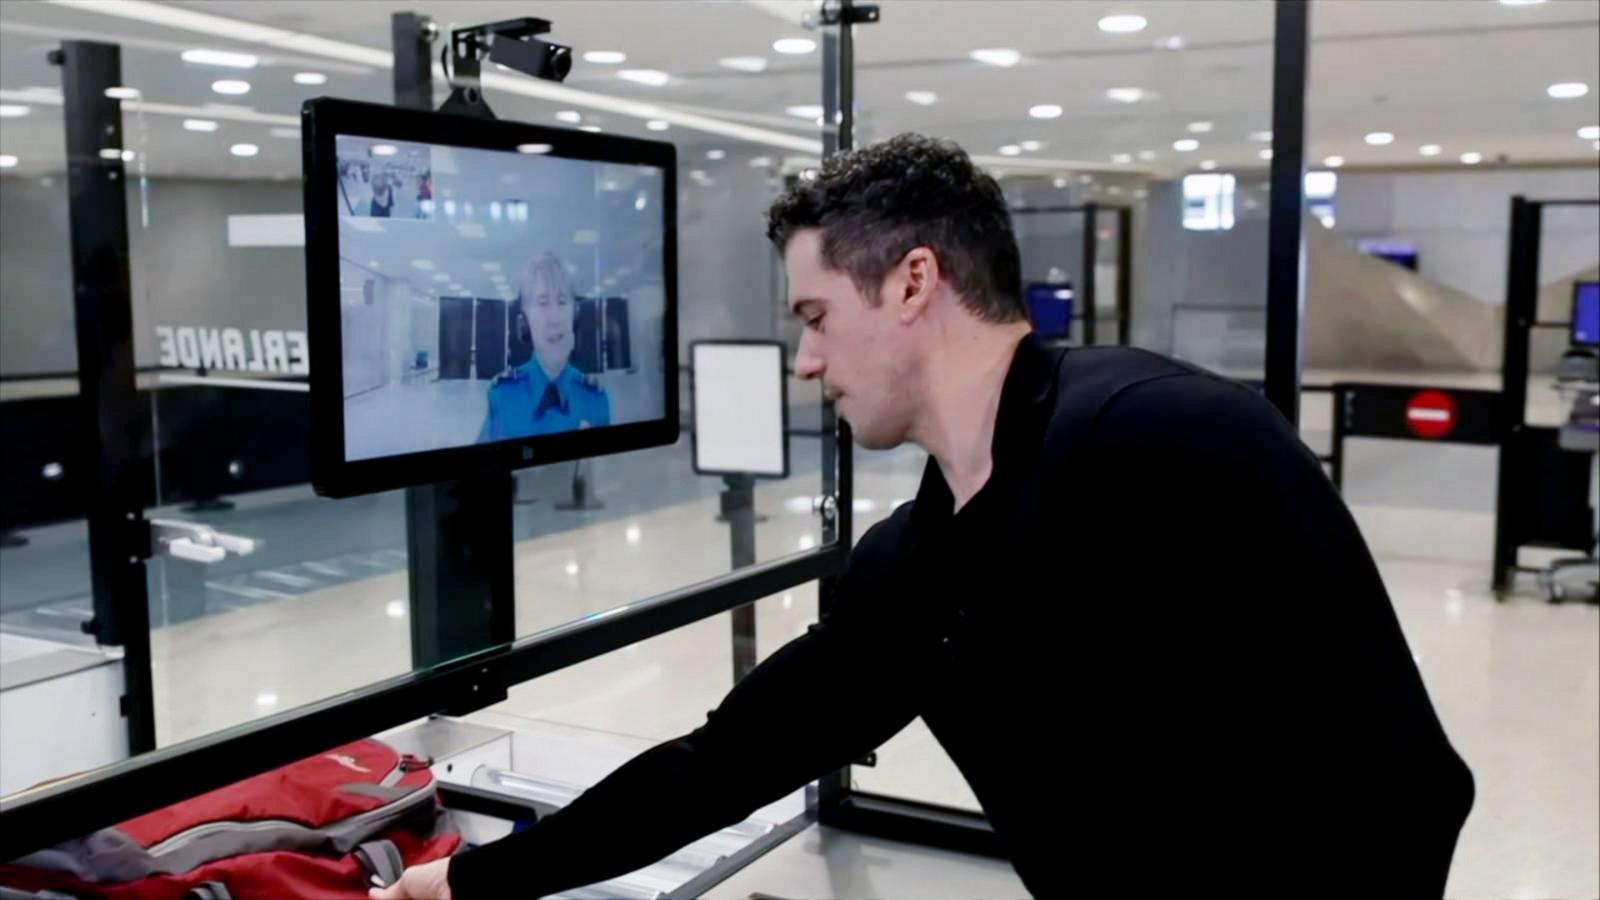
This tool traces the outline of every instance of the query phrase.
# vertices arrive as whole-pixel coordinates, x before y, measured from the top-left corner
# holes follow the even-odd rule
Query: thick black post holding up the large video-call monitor
[[[427,16],[395,13],[395,106],[434,109],[432,40]],[[411,666],[422,669],[517,637],[512,578],[509,474],[410,487],[405,493],[406,569],[411,589]],[[472,697],[470,708],[506,692]]]

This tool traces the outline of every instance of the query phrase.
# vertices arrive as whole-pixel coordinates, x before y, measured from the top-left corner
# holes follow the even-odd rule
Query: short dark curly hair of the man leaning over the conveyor
[[[779,253],[811,227],[821,231],[822,261],[850,274],[874,303],[890,269],[928,247],[978,319],[1027,319],[1005,195],[952,141],[907,133],[827,160],[766,213],[766,237]]]

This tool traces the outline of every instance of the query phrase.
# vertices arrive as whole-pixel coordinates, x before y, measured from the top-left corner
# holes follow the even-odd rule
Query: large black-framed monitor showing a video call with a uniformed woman
[[[302,119],[318,493],[677,440],[670,144],[326,98]]]

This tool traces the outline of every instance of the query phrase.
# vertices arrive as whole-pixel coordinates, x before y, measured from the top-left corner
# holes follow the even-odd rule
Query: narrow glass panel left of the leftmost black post
[[[54,46],[0,30],[0,796],[128,753],[120,650],[85,631],[96,461],[82,439]]]

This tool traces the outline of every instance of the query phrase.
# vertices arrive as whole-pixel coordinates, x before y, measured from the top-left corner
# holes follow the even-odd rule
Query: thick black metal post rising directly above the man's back
[[[1306,69],[1307,0],[1277,0],[1272,40],[1272,197],[1267,213],[1266,396],[1299,423],[1306,309]]]

